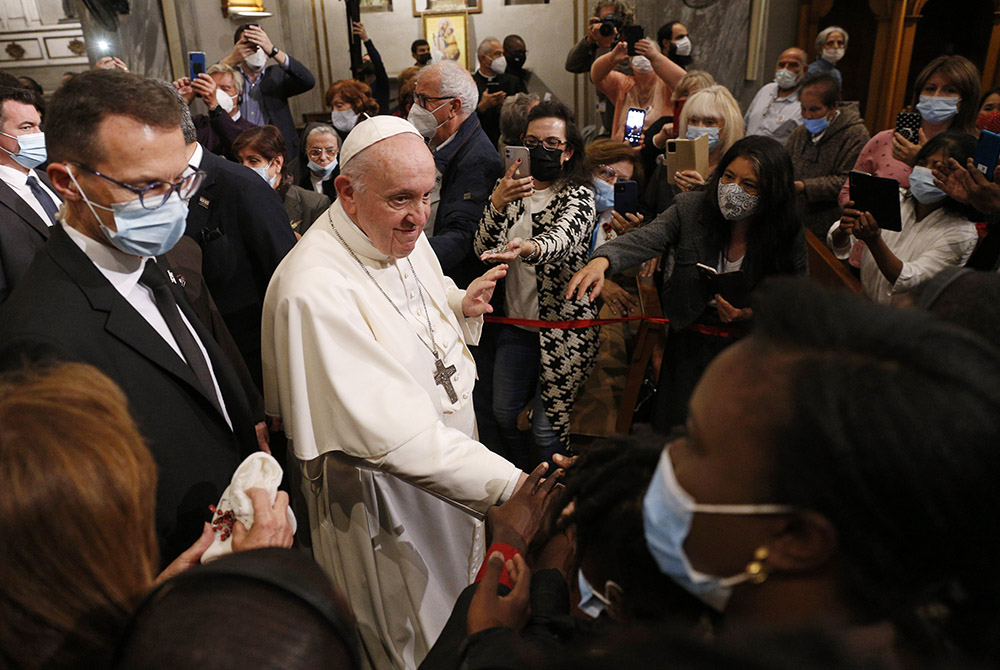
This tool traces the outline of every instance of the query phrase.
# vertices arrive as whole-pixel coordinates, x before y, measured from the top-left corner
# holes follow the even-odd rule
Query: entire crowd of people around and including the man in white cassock
[[[253,23],[0,72],[0,668],[1000,663],[1000,91],[942,55],[871,135],[839,26],[741,109],[637,22],[567,54],[599,127],[513,34],[391,100],[355,22],[303,127]],[[648,420],[582,440],[643,282]]]

